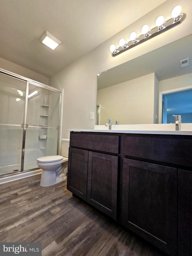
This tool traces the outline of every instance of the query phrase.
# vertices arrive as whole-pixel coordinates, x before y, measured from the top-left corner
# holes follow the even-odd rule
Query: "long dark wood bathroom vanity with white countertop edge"
[[[67,189],[169,255],[192,255],[192,136],[72,130]]]

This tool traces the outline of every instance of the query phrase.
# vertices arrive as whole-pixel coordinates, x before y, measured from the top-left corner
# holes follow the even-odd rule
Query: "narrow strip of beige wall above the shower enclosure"
[[[40,75],[34,71],[31,71],[27,68],[23,68],[22,66],[19,66],[13,62],[10,62],[10,61],[2,59],[2,58],[0,58],[0,68],[5,69],[10,72],[13,72],[15,74],[18,74],[20,76],[30,78],[37,82],[49,85],[49,77]]]

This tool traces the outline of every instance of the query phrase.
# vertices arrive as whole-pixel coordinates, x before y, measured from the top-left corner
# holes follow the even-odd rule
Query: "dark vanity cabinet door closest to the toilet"
[[[67,189],[86,201],[88,151],[69,148]]]

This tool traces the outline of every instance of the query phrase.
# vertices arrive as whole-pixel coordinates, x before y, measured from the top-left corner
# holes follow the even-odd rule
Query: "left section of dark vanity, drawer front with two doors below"
[[[118,135],[70,136],[67,189],[115,220],[118,153]]]

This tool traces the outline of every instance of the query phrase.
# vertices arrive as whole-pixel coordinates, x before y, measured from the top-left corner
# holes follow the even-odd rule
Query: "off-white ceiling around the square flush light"
[[[165,1],[0,0],[0,57],[50,77]]]

